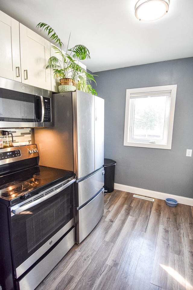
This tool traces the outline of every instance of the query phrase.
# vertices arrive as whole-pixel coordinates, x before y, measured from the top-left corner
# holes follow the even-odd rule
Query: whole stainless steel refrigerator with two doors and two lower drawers
[[[53,127],[34,129],[43,166],[74,170],[76,242],[104,212],[104,100],[75,91],[53,95]]]

